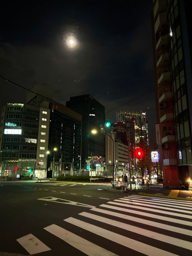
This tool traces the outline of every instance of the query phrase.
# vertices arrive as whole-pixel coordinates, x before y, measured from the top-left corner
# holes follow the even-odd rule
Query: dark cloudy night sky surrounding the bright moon
[[[111,121],[119,109],[146,111],[154,147],[151,10],[152,0],[3,3],[0,75],[29,89],[43,83],[62,104],[90,94]],[[68,34],[76,49],[66,47]],[[0,108],[26,101],[26,90],[2,79],[0,88]]]

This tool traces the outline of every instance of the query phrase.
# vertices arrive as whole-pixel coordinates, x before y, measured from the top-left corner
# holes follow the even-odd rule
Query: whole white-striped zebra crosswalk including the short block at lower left
[[[129,195],[44,230],[79,250],[79,255],[191,255],[192,202]],[[32,234],[17,239],[30,254],[51,252],[51,244],[44,240]]]

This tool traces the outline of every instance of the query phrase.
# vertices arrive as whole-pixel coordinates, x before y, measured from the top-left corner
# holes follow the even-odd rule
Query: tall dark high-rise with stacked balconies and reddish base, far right
[[[190,1],[154,0],[152,28],[156,73],[157,143],[164,184],[192,176],[192,18]]]

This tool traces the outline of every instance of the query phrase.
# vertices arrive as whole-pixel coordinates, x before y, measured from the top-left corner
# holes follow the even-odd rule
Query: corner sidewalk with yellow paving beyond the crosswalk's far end
[[[162,185],[149,185],[149,190],[146,185],[134,185],[132,184],[132,191],[130,190],[130,186],[126,188],[126,190],[117,190],[115,188],[109,188],[114,192],[119,193],[132,193],[138,194],[142,196],[155,196],[155,197],[164,197],[164,198],[177,198],[192,201],[192,191],[188,190],[168,190],[167,188],[163,188]]]

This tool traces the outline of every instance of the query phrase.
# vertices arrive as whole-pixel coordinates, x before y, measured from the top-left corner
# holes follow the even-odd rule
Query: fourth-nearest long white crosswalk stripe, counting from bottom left
[[[114,211],[107,211],[107,210],[103,210],[103,209],[99,209],[99,208],[93,208],[91,210],[99,212],[99,213],[105,213],[105,214],[114,216]],[[143,223],[143,224],[153,226],[153,227],[156,227],[156,228],[162,228],[162,229],[173,231],[173,232],[180,233],[180,234],[183,234],[183,235],[192,236],[192,231],[188,230],[188,229],[185,229],[185,228],[177,228],[175,226],[162,224],[162,223],[151,221],[151,220],[144,220],[142,218],[137,218],[137,217],[133,217],[133,216],[130,216],[130,215],[117,213],[117,212],[115,212],[115,216],[118,217],[118,218],[125,219],[125,220],[131,220],[131,221],[134,221],[134,222]]]

